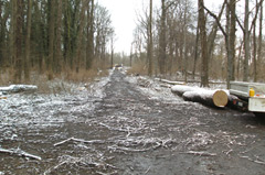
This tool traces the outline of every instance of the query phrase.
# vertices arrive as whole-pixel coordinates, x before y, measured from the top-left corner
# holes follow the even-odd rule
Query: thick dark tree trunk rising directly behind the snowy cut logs
[[[208,43],[206,43],[206,22],[204,15],[204,1],[198,0],[199,7],[199,29],[200,29],[200,36],[201,36],[201,51],[202,51],[202,67],[201,67],[201,86],[208,87],[209,86],[209,67],[208,67]]]

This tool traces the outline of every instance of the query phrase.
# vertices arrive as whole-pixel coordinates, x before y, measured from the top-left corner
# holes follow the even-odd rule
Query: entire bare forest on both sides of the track
[[[78,79],[114,63],[201,86],[264,81],[263,1],[223,0],[213,11],[203,0],[161,0],[157,9],[149,0],[124,55],[115,53],[112,15],[94,0],[0,0],[0,73],[9,77],[1,81],[29,83],[35,74]]]

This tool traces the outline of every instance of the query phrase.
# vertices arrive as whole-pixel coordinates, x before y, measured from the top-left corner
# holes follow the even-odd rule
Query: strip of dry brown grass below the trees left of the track
[[[13,69],[6,69],[0,73],[0,87],[14,84],[13,73]],[[57,75],[49,72],[39,74],[36,70],[32,70],[30,81],[22,79],[21,84],[36,85],[40,94],[70,92],[74,84],[88,84],[95,78],[107,75],[107,69],[100,70],[96,68],[91,70],[81,69],[80,73],[67,69]]]

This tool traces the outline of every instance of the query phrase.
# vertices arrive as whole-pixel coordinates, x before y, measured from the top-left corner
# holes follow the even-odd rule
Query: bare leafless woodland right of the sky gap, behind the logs
[[[231,80],[264,81],[263,1],[223,0],[213,11],[203,0],[161,0],[158,9],[149,0],[134,32],[135,69],[178,73],[186,81],[199,76],[201,86],[209,79],[227,87]]]

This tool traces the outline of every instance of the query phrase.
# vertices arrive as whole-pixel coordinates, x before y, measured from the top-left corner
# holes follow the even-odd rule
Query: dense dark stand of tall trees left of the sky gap
[[[1,0],[0,29],[0,70],[12,83],[105,68],[114,35],[94,0]]]

